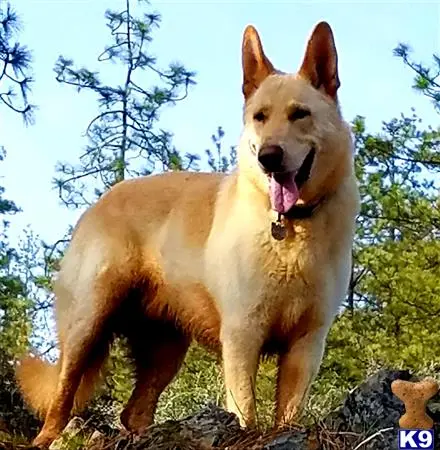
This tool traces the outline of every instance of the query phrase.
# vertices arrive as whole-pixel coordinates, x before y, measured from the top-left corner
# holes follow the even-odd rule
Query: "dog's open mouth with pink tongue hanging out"
[[[269,174],[270,201],[272,209],[280,214],[287,213],[298,201],[299,190],[310,177],[315,149],[312,148],[296,172]]]

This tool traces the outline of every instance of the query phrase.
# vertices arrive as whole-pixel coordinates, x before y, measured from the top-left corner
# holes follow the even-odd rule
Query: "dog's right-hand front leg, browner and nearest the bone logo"
[[[324,353],[328,327],[320,327],[292,341],[279,359],[275,424],[288,425],[300,413]]]

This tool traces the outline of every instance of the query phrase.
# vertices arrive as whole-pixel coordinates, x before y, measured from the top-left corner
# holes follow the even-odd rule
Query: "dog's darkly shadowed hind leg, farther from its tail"
[[[130,327],[124,334],[136,364],[136,385],[121,422],[140,434],[153,423],[159,396],[179,371],[189,339],[173,323],[144,319]]]

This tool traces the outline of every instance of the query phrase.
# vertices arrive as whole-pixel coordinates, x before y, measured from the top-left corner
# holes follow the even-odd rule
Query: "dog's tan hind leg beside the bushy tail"
[[[63,313],[59,373],[44,426],[33,442],[35,446],[46,447],[59,436],[85,374],[91,368],[100,369],[96,364],[99,353],[107,350],[104,347],[110,339],[109,319],[123,297],[118,277],[116,271],[105,269],[87,274],[81,283],[62,289],[64,296],[70,295],[71,299],[68,311]]]

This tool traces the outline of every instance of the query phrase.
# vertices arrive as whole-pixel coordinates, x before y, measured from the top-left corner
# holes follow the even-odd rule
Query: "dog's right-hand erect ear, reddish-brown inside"
[[[327,22],[320,22],[313,30],[299,74],[308,79],[316,89],[322,89],[336,99],[340,86],[338,55],[333,32]]]

